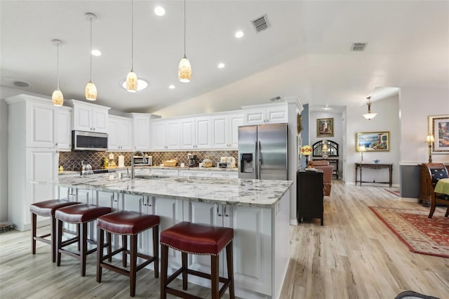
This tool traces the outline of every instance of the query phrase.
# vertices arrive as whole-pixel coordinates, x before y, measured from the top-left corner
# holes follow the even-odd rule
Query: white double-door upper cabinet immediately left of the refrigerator
[[[236,149],[239,146],[239,126],[243,125],[244,114],[222,114],[210,118],[213,149]]]

